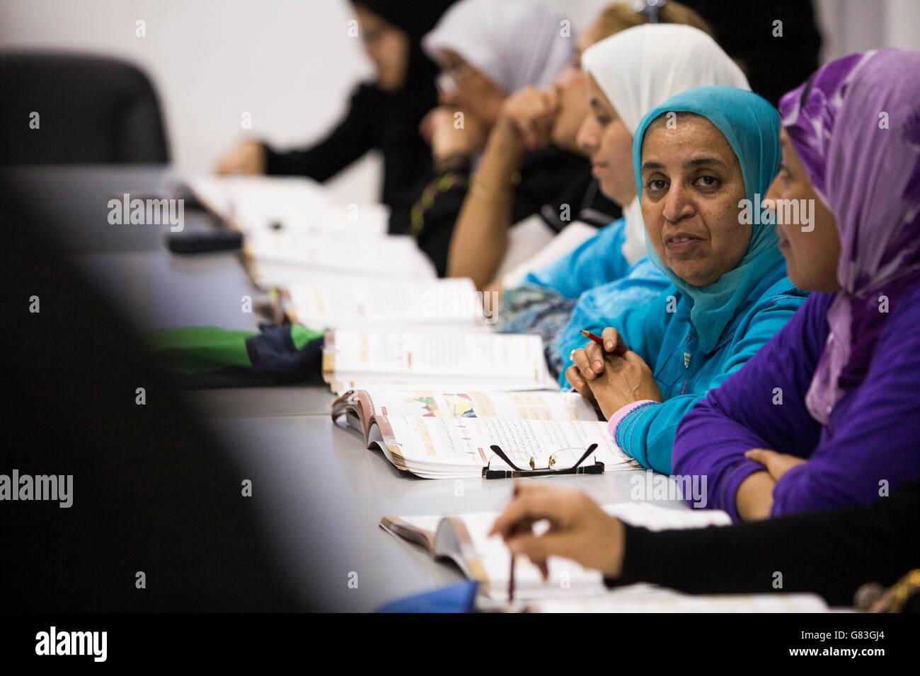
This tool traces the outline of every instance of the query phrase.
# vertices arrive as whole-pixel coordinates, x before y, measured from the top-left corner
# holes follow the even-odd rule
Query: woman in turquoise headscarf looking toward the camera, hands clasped
[[[779,158],[776,110],[735,87],[685,91],[639,122],[633,168],[649,257],[672,284],[599,320],[604,346],[572,350],[566,377],[646,467],[671,473],[684,414],[805,301],[760,208]]]

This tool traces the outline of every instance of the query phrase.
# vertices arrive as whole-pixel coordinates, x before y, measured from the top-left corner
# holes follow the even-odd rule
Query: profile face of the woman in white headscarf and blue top
[[[632,134],[620,120],[592,74],[587,75],[588,108],[581,122],[578,144],[591,158],[592,174],[601,191],[621,206],[636,197],[632,170]]]

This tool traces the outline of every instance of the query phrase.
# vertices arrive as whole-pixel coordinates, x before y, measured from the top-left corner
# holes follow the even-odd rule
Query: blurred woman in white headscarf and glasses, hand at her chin
[[[542,0],[460,0],[423,38],[422,49],[442,69],[442,107],[422,123],[435,171],[412,208],[392,214],[390,230],[414,235],[443,275],[467,194],[506,203],[512,222],[540,213],[558,230],[561,223],[550,214],[572,200],[570,185],[559,177],[582,176],[587,184],[590,167],[581,155],[549,147],[524,156],[516,186],[470,185],[470,171],[502,101],[524,86],[548,86],[572,59],[569,24],[555,9]],[[604,207],[615,212],[609,201]]]

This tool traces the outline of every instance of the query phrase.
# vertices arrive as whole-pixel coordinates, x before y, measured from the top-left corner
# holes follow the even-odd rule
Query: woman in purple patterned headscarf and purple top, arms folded
[[[707,507],[745,521],[920,475],[920,53],[839,59],[779,108],[767,197],[789,279],[816,293],[673,447],[674,474],[706,476]]]

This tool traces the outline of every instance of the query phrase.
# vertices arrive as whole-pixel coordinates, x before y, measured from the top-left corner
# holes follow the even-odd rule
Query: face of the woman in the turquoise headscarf
[[[662,115],[646,131],[641,171],[642,218],[661,262],[694,286],[735,269],[751,241],[739,218],[744,177],[712,122]]]

